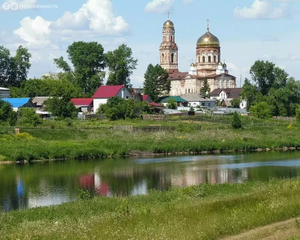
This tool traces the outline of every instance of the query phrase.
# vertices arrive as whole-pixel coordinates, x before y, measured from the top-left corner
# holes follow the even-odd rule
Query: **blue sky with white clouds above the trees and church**
[[[300,0],[0,0],[0,45],[14,55],[32,54],[29,78],[57,73],[53,58],[67,58],[74,41],[97,41],[105,52],[125,43],[138,66],[131,76],[142,87],[149,63],[159,63],[162,26],[170,12],[179,47],[179,71],[187,72],[196,42],[209,30],[237,87],[256,60],[269,60],[300,80]]]

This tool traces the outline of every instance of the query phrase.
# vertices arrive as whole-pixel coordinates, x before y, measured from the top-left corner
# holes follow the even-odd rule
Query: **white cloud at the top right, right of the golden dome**
[[[271,2],[264,0],[254,0],[250,8],[236,7],[234,9],[234,16],[241,19],[274,19],[287,17],[287,15],[287,3],[280,3],[278,7],[273,7]]]

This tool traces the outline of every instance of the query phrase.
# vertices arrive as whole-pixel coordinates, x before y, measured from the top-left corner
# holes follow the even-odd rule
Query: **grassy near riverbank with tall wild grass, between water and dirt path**
[[[200,184],[12,211],[0,214],[0,239],[220,239],[300,216],[299,188],[299,179]]]

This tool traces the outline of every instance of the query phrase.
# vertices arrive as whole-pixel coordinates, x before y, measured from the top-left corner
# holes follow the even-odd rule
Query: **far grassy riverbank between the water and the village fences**
[[[288,124],[280,124],[272,127],[231,129],[218,123],[117,121],[119,125],[132,122],[144,126],[162,123],[164,126],[176,126],[176,130],[130,133],[114,129],[78,129],[77,125],[63,130],[21,129],[20,134],[0,136],[0,155],[3,156],[0,161],[300,148],[300,127],[297,125],[292,128],[287,128]],[[110,126],[116,122],[97,121],[91,124]]]

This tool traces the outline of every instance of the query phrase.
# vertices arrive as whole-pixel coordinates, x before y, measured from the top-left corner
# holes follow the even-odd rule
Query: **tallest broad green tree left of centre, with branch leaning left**
[[[104,48],[97,42],[74,42],[67,51],[72,67],[63,57],[54,58],[57,68],[73,76],[73,81],[83,89],[84,94],[91,96],[103,84],[106,59]]]

